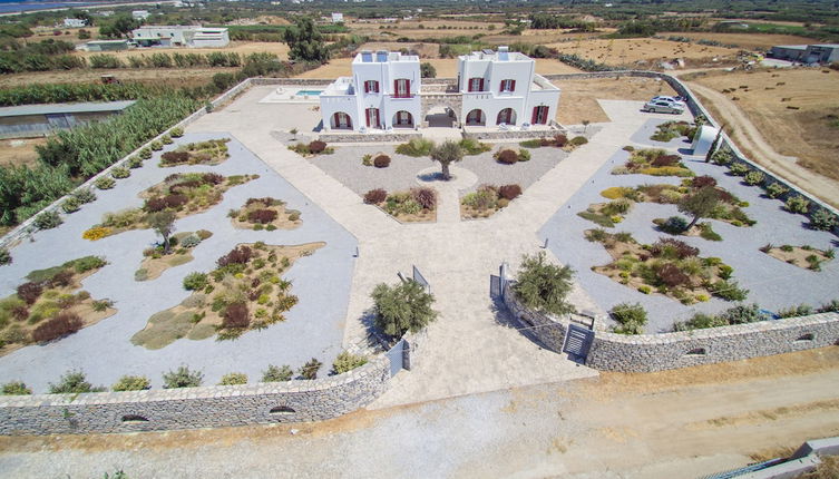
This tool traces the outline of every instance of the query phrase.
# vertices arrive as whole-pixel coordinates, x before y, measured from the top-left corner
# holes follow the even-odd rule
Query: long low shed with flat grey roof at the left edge
[[[134,100],[0,108],[0,138],[31,138],[119,115]]]

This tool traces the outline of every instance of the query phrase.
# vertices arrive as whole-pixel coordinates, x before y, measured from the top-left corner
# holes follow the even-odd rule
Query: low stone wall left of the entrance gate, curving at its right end
[[[0,434],[134,432],[319,421],[381,395],[390,361],[380,355],[344,374],[272,382],[131,392],[0,395]]]

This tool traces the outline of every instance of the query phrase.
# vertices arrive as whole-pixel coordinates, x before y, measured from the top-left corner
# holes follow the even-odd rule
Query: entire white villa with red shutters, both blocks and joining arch
[[[362,51],[352,77],[338,78],[320,95],[323,130],[548,129],[559,89],[535,69],[531,58],[499,47],[459,57],[457,85],[422,85],[419,57]]]

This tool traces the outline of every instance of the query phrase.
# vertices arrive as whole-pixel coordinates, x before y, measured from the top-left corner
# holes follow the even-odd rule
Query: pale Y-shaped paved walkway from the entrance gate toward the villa
[[[203,117],[189,131],[230,130],[357,236],[360,256],[344,344],[365,344],[361,319],[372,305],[369,294],[378,283],[396,282],[399,271],[409,273],[416,265],[437,299],[440,315],[428,328],[419,364],[400,373],[373,408],[596,374],[513,329],[506,312],[489,297],[489,275],[504,261],[516,271],[523,254],[540,251],[539,227],[650,119],[637,113],[640,104],[604,101],[607,114],[621,121],[605,124],[592,141],[494,217],[455,221],[456,193],[443,188],[438,223],[402,225],[275,140],[271,131],[282,107],[257,105],[262,96],[255,88],[227,109]],[[556,261],[549,252],[548,256]],[[574,301],[579,307],[594,307],[581,290],[574,292]]]

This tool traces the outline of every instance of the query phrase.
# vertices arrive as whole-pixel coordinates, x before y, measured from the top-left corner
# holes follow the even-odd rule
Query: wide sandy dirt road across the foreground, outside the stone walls
[[[839,434],[839,348],[314,424],[0,438],[6,477],[691,478]],[[767,452],[770,451],[770,452]]]

